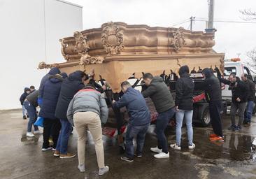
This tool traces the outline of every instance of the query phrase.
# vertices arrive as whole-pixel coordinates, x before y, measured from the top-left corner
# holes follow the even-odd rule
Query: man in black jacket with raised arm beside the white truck
[[[229,130],[241,130],[241,124],[244,120],[244,113],[247,106],[249,87],[240,80],[239,77],[236,77],[235,73],[229,75],[229,80],[226,80],[221,77],[220,71],[216,70],[218,73],[218,78],[221,83],[229,85],[229,90],[232,91],[232,104],[230,110],[231,122],[232,125],[229,127]],[[236,111],[239,110],[239,123],[236,126]]]

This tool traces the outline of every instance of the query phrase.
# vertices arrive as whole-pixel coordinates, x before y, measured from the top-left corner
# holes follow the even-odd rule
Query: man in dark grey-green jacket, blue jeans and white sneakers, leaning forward
[[[168,144],[164,130],[166,129],[171,117],[175,114],[175,103],[169,88],[159,76],[153,77],[151,73],[143,75],[143,81],[148,88],[142,92],[143,96],[150,97],[157,110],[157,140],[158,146],[150,148],[152,152],[157,152],[155,158],[169,158]]]

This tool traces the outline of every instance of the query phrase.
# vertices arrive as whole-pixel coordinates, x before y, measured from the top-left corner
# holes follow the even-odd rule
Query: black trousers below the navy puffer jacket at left
[[[62,125],[58,119],[44,118],[43,120],[43,148],[49,148],[49,138],[52,136],[53,146],[56,148],[57,141],[59,138],[59,131]]]

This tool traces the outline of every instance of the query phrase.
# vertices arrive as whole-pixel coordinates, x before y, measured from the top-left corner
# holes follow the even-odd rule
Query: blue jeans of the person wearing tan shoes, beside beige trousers
[[[59,120],[62,124],[62,129],[59,133],[56,150],[61,154],[66,155],[68,150],[69,136],[71,134],[72,126],[68,120]]]

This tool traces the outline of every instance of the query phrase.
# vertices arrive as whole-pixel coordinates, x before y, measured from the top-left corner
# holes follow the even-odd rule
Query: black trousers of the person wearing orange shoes
[[[222,108],[221,101],[211,101],[209,103],[209,112],[211,117],[211,126],[213,127],[214,134],[223,136],[222,134],[222,122],[220,117],[220,110]]]

